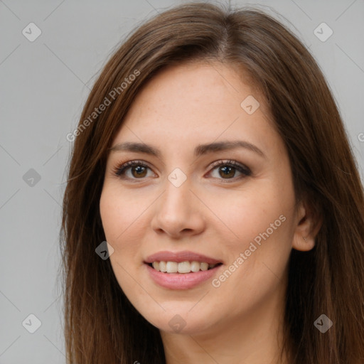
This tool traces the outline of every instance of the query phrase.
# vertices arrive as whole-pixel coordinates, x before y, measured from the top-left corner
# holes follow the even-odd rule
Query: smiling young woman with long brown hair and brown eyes
[[[73,133],[69,363],[364,362],[364,198],[308,50],[254,9],[140,26]]]

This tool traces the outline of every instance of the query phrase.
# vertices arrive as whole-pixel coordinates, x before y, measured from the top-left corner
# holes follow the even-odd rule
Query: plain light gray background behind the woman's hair
[[[0,0],[0,364],[65,363],[58,232],[72,147],[66,135],[115,46],[141,21],[182,2]],[[231,1],[243,4],[256,3]],[[284,16],[323,69],[363,178],[364,1],[259,4]],[[22,33],[31,22],[42,32],[33,42]],[[314,34],[322,22],[333,30],[324,42]],[[34,333],[29,314],[41,321]]]

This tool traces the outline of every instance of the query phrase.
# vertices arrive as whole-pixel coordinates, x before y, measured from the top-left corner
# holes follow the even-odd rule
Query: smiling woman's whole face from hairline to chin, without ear
[[[283,305],[302,216],[284,143],[243,81],[219,63],[163,70],[107,159],[100,213],[112,269],[163,332],[212,333]]]

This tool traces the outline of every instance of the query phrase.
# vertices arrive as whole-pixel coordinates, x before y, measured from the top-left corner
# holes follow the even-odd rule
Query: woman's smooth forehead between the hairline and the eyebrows
[[[234,68],[221,63],[161,70],[135,98],[115,142],[152,141],[192,149],[193,144],[243,138],[264,148],[269,136],[279,135],[274,134],[256,87],[244,81]]]

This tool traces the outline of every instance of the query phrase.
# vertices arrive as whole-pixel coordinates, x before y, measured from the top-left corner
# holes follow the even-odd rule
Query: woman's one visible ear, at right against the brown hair
[[[315,238],[322,225],[322,218],[314,213],[308,203],[299,203],[296,213],[296,229],[292,248],[301,252],[308,252],[315,246]]]

